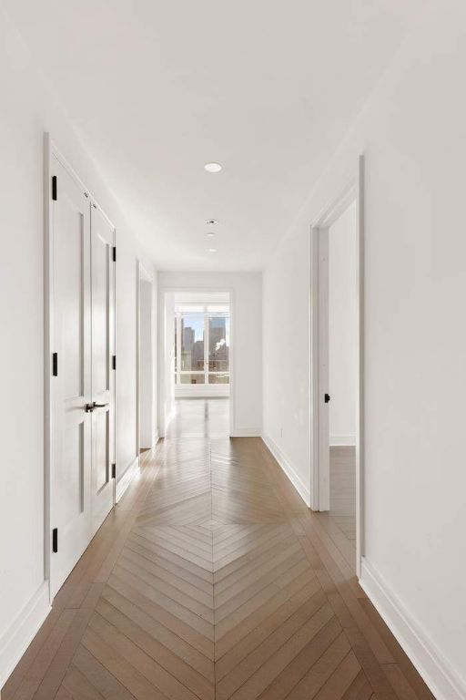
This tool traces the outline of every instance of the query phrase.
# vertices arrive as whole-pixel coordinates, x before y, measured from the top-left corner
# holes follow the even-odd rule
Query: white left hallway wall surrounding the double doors
[[[43,135],[117,226],[117,468],[136,453],[137,242],[0,5],[0,687],[47,612]],[[125,376],[123,383],[119,377]],[[29,614],[28,622],[25,621]]]

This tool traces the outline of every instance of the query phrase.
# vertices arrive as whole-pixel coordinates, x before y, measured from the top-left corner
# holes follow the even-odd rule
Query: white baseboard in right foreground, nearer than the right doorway
[[[466,685],[364,557],[360,585],[437,700],[466,700]]]

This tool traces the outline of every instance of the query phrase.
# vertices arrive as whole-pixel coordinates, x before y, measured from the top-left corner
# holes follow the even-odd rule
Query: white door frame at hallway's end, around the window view
[[[160,438],[165,438],[167,427],[171,417],[165,415],[165,397],[167,395],[167,343],[166,343],[166,314],[167,314],[167,294],[169,293],[198,293],[199,296],[206,293],[228,293],[229,295],[229,436],[235,435],[235,289],[234,287],[160,287],[158,289],[158,323],[157,323],[157,411],[158,429]]]

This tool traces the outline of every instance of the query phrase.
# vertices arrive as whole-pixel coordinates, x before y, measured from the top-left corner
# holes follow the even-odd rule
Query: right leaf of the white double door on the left
[[[115,462],[115,230],[104,214],[91,209],[92,397],[101,407],[92,414],[92,529],[96,532],[114,503]]]

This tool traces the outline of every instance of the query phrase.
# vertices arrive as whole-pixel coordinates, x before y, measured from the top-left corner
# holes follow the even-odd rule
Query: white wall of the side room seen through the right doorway
[[[330,445],[356,444],[356,202],[329,227]]]

